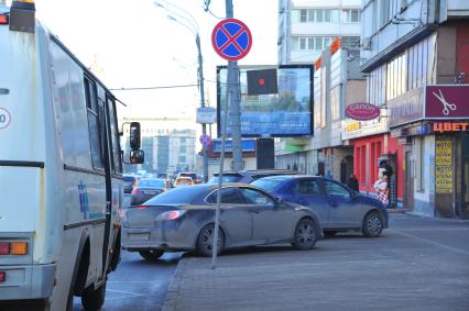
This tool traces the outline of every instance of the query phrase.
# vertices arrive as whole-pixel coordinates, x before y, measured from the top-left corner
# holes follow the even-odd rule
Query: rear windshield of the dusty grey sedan
[[[159,206],[159,204],[192,204],[201,193],[206,193],[207,188],[205,187],[179,187],[171,189],[164,193],[161,193],[153,199],[145,202],[145,206]]]

